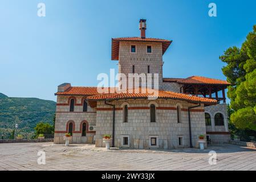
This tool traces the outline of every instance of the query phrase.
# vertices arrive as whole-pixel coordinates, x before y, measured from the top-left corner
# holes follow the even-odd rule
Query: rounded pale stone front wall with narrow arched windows
[[[128,104],[128,122],[123,122],[123,110],[116,110],[115,117],[115,147],[122,147],[122,136],[129,136],[129,147],[131,148],[151,148],[149,147],[149,136],[154,135],[159,138],[159,148],[178,148],[189,146],[189,125],[187,102],[174,100],[126,100],[115,101],[116,108],[123,108]],[[157,105],[156,122],[150,121],[150,110],[148,107],[151,103]],[[177,104],[182,107],[181,123],[177,123]],[[104,134],[112,135],[112,110],[107,110],[111,106],[105,105],[104,102],[97,102],[96,114],[96,147],[103,147],[102,138]],[[105,110],[104,110],[105,109]],[[204,106],[197,107],[202,111],[191,112],[192,122],[192,140],[193,146],[196,146],[198,136],[206,134]],[[178,137],[182,137],[182,145],[178,146]]]

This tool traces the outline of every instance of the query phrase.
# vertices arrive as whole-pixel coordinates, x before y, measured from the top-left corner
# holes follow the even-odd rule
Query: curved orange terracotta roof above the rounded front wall
[[[115,93],[98,94],[96,96],[90,96],[87,98],[88,100],[91,100],[91,101],[149,98],[153,96],[152,94],[153,91],[156,92],[156,90],[153,90],[153,89],[146,90],[146,89],[138,88],[138,89],[128,90],[127,93],[116,91]],[[217,100],[197,97],[197,96],[190,96],[188,94],[176,93],[176,92],[165,91],[165,90],[159,90],[158,98],[182,100],[182,101],[188,101],[193,103],[202,103],[206,105],[217,104]]]

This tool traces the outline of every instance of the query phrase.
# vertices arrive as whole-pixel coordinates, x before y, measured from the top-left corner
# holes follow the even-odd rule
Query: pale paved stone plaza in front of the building
[[[211,150],[217,152],[216,165],[208,162]],[[46,164],[38,164],[38,151],[46,152]],[[231,144],[204,151],[106,151],[93,144],[2,143],[0,170],[256,170],[256,150]]]

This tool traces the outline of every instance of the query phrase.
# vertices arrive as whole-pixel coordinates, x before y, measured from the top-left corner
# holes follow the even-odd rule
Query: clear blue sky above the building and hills
[[[37,5],[46,5],[46,17]],[[217,5],[217,17],[208,5]],[[0,92],[10,97],[56,100],[63,82],[96,86],[109,73],[111,38],[146,36],[173,40],[165,52],[164,77],[226,79],[219,56],[241,46],[256,24],[256,1],[0,1]]]

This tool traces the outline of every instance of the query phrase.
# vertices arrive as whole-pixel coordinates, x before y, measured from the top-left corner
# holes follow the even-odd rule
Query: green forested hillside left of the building
[[[32,133],[38,122],[53,124],[55,109],[55,101],[0,93],[0,132],[10,133],[18,123],[19,131]]]

